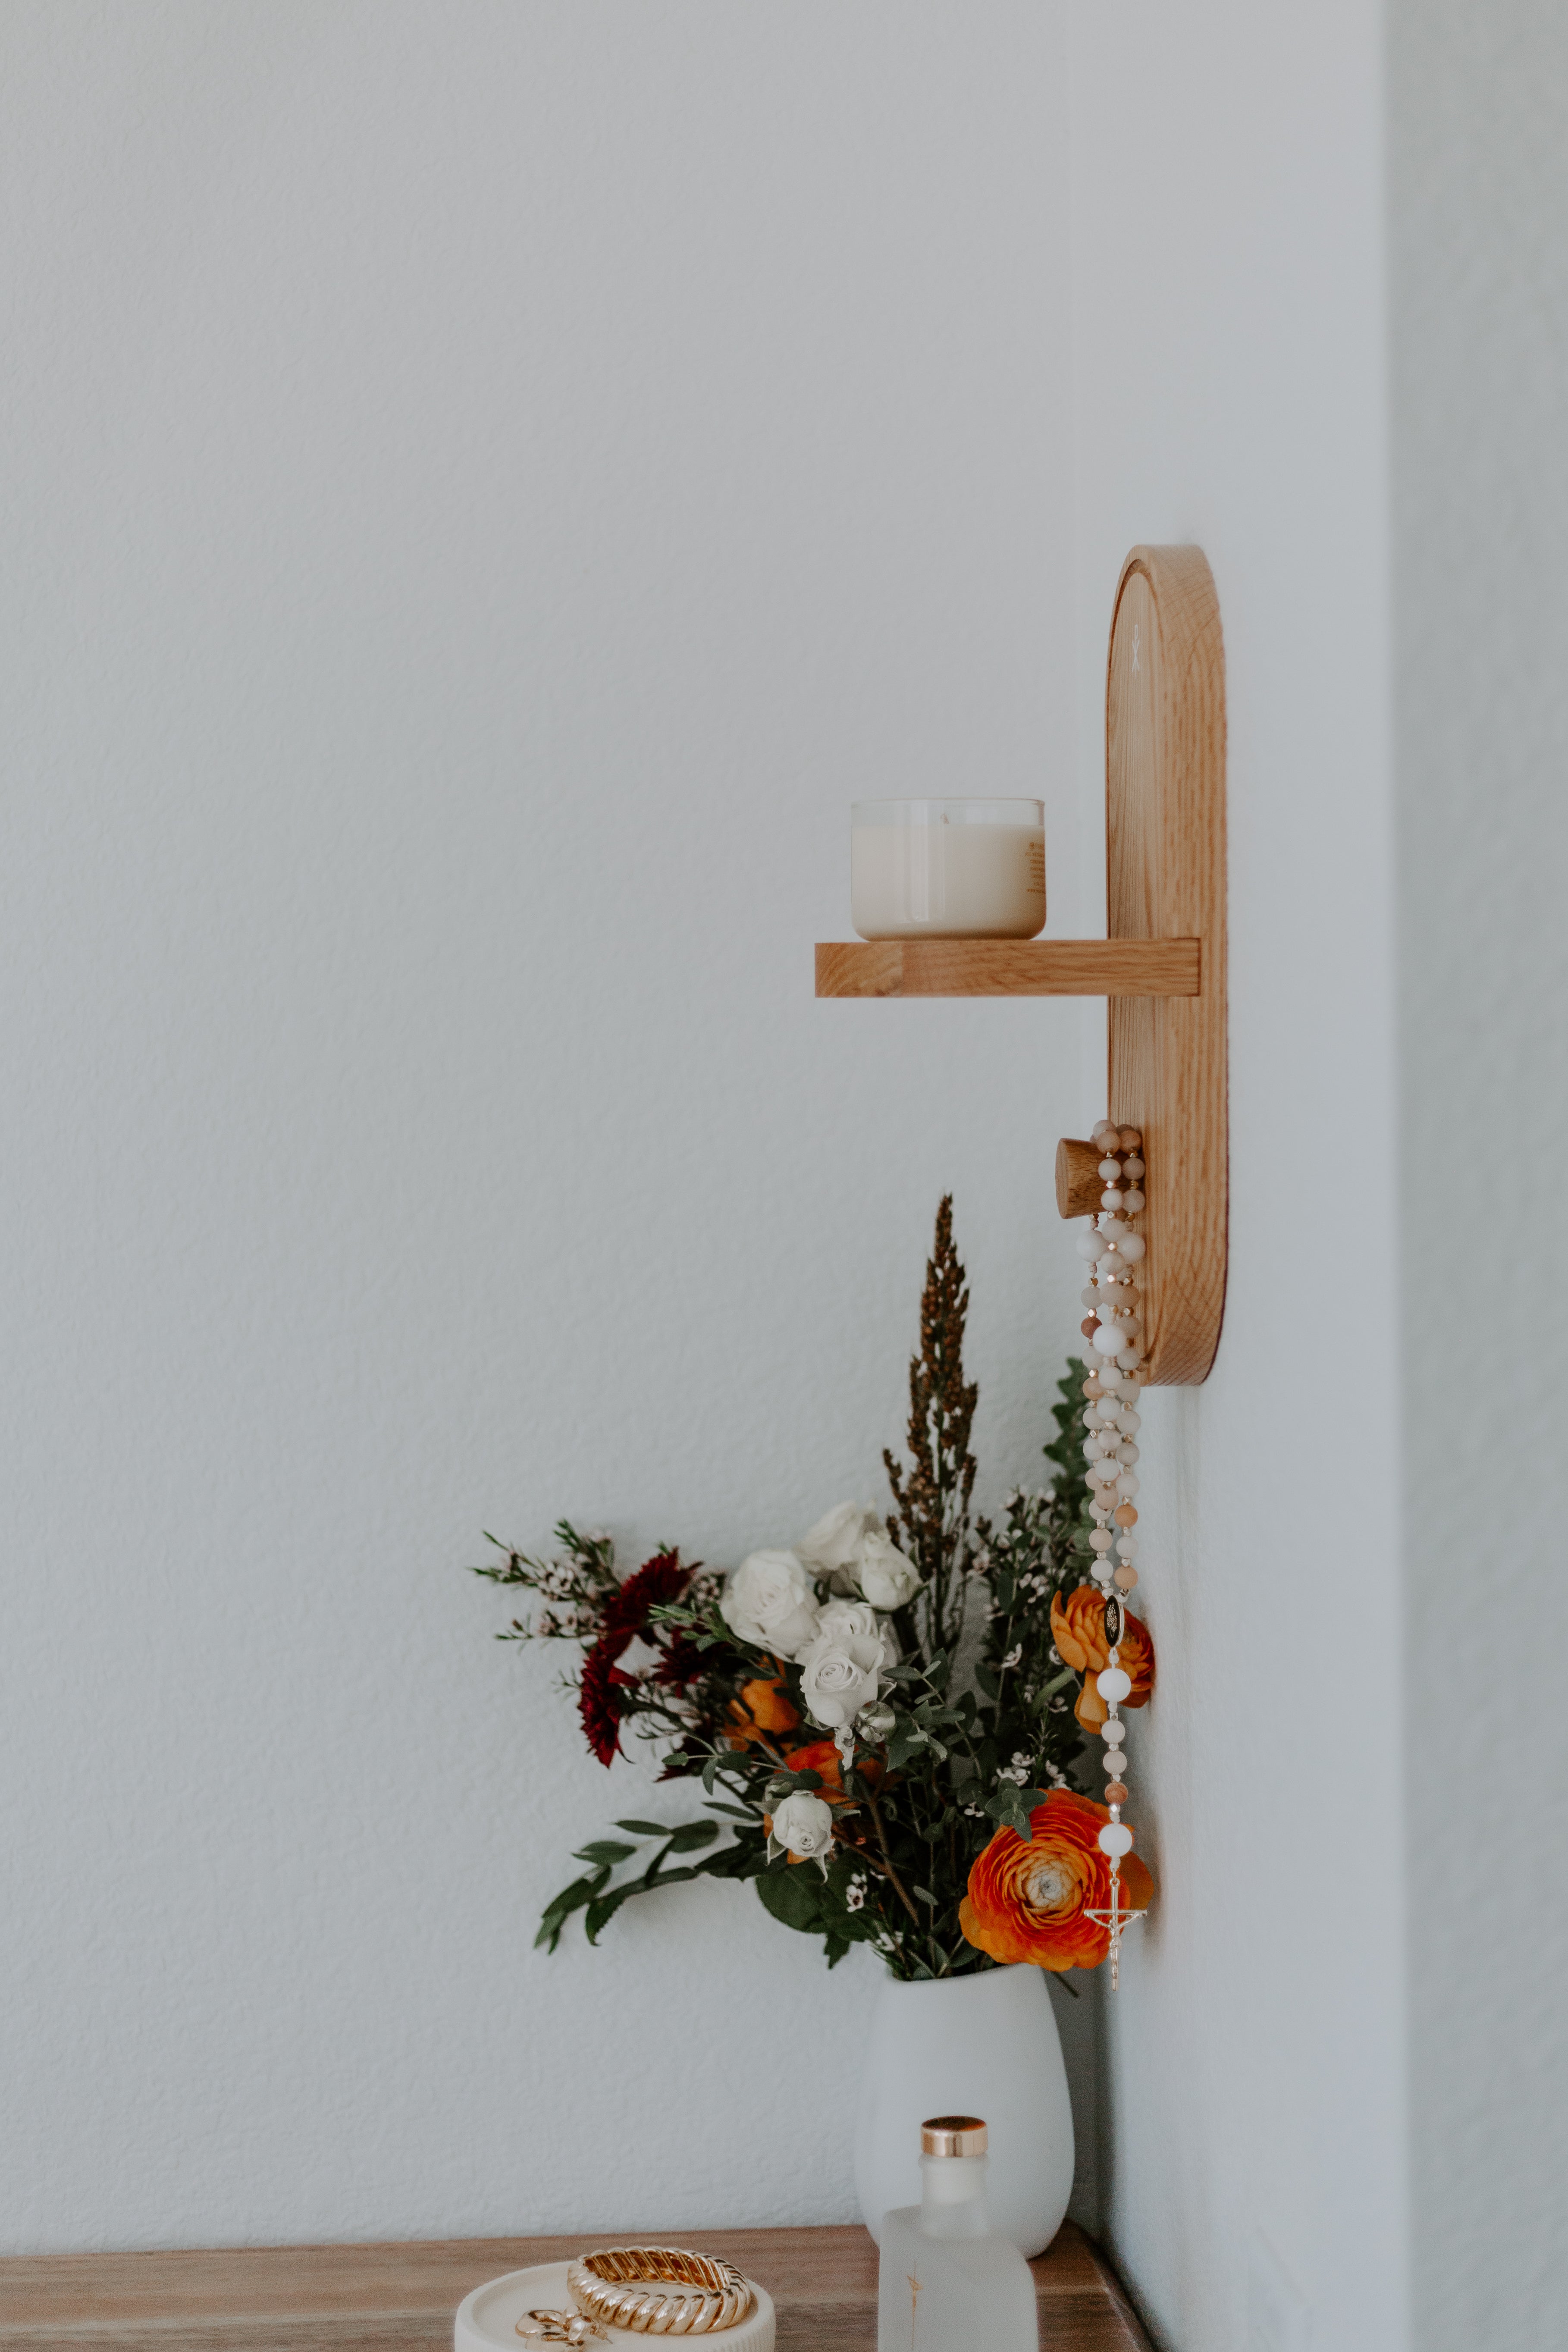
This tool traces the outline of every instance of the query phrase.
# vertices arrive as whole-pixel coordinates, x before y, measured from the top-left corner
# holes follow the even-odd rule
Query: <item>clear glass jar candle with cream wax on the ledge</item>
[[[860,938],[1034,938],[1046,927],[1041,800],[856,800]]]

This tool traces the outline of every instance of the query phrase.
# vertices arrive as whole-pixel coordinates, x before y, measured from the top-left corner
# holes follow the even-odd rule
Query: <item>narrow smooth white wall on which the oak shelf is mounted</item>
[[[1110,2230],[1180,2352],[1371,2352],[1403,2324],[1380,9],[1072,26],[1084,809],[1128,543],[1208,550],[1229,677],[1229,1296],[1208,1383],[1145,1416],[1164,1898],[1112,2004]]]

